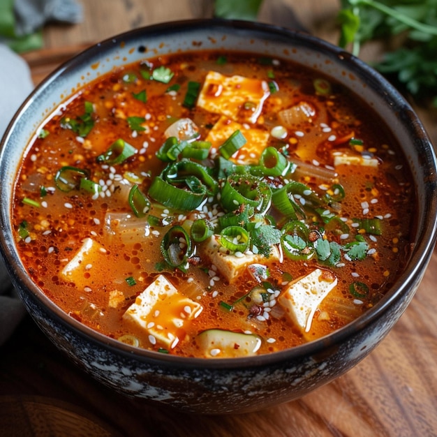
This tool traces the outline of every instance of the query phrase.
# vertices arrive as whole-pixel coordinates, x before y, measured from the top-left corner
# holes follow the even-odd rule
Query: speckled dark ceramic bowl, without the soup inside
[[[15,249],[10,211],[15,175],[36,129],[57,106],[114,66],[185,50],[244,50],[310,66],[339,80],[391,129],[415,179],[418,198],[410,262],[390,292],[364,316],[334,334],[271,355],[191,359],[138,350],[84,327],[54,306],[29,279]],[[27,98],[1,142],[0,249],[13,283],[43,332],[73,362],[129,397],[192,413],[245,413],[304,396],[368,355],[413,298],[436,242],[436,157],[410,105],[360,60],[288,29],[219,20],[158,24],[94,45],[52,73]]]

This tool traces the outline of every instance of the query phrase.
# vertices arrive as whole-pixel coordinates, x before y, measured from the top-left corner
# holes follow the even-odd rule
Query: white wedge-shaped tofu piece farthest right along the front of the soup
[[[277,302],[283,306],[287,316],[302,331],[309,332],[314,313],[336,284],[337,279],[332,272],[315,269],[310,274],[290,283],[278,297]]]

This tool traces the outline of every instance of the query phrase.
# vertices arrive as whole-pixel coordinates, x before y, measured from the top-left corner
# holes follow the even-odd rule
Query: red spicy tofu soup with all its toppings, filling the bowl
[[[161,353],[241,357],[325,336],[406,263],[404,157],[341,84],[196,52],[91,82],[17,175],[29,275],[69,316]]]

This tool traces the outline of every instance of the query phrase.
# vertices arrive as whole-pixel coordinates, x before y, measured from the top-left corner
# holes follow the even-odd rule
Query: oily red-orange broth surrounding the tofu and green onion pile
[[[327,82],[328,92],[317,91],[314,79],[321,75],[283,60],[258,59],[242,53],[226,53],[225,62],[218,59],[223,60],[222,53],[161,57],[118,68],[91,82],[47,119],[41,130],[45,135],[39,135],[30,145],[17,175],[13,225],[20,256],[36,285],[71,317],[142,348],[202,356],[196,338],[208,329],[256,334],[262,339],[257,353],[291,348],[329,334],[360,316],[390,288],[406,262],[415,205],[408,168],[387,129],[369,108],[339,84]],[[160,66],[174,74],[168,83],[149,79],[144,73]],[[348,260],[341,252],[341,261],[329,265],[316,256],[290,260],[281,253],[280,260],[267,259],[267,279],[257,279],[246,269],[240,272],[238,281],[230,284],[223,272],[209,262],[204,242],[198,244],[186,272],[163,265],[160,245],[165,232],[175,224],[188,226],[189,221],[205,214],[174,212],[152,201],[149,214],[135,218],[127,202],[128,192],[138,184],[142,193],[147,193],[167,165],[156,157],[156,152],[165,142],[168,126],[189,118],[198,127],[199,140],[205,140],[221,121],[219,113],[196,105],[186,108],[183,103],[188,82],[202,84],[209,71],[269,83],[269,96],[255,122],[246,121],[253,110],[249,104],[240,105],[235,119],[228,117],[225,124],[238,122],[246,135],[246,128],[267,133],[265,146],[274,146],[297,163],[290,177],[306,184],[320,198],[333,184],[344,186],[339,216],[348,223],[350,235],[341,232],[339,225],[325,231],[329,225],[320,225],[320,211],[307,215],[309,228],[316,231],[316,237],[326,232],[331,241],[343,246],[361,235],[367,245],[363,260]],[[217,90],[210,91],[214,94]],[[68,123],[73,120],[84,124],[86,102],[93,106],[88,114],[93,126],[81,137]],[[137,119],[133,126],[129,123],[131,117],[143,121],[139,124]],[[132,145],[136,153],[117,165],[99,162],[98,156],[119,138]],[[247,156],[240,152],[240,161],[244,162]],[[212,165],[212,154],[218,155],[218,151],[212,149],[202,163]],[[334,166],[335,156],[352,158]],[[377,165],[362,165],[375,162],[369,160],[376,160]],[[101,193],[93,196],[83,189],[59,190],[54,179],[65,166],[86,170],[88,179],[101,186]],[[274,177],[269,180],[278,183]],[[216,219],[220,214],[215,205],[219,205],[216,199],[209,205],[208,218]],[[108,214],[130,214],[131,225],[121,231],[114,227],[117,218],[110,223]],[[274,209],[271,214],[281,220]],[[159,225],[147,224],[149,216],[158,217]],[[365,232],[354,221],[373,217],[380,218],[381,235]],[[80,266],[79,278],[66,281],[61,272],[84,239],[95,242],[96,253],[92,262],[84,258],[87,265]],[[338,282],[318,305],[311,329],[306,332],[290,321],[277,298],[290,281],[310,274],[316,267],[333,272]],[[184,335],[173,348],[163,347],[146,329],[123,318],[138,295],[161,274],[182,295],[202,305],[202,313],[184,324]],[[364,283],[366,292],[358,288],[351,293],[354,283]],[[271,286],[269,292],[264,292],[267,305],[248,295],[259,286]]]

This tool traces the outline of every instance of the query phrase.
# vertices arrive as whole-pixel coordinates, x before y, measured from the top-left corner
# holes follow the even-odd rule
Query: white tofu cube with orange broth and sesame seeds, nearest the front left
[[[162,274],[135,299],[123,315],[149,334],[149,341],[175,348],[186,334],[186,325],[197,318],[203,306],[177,291]]]

